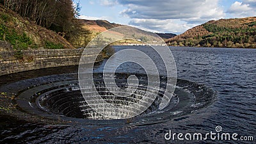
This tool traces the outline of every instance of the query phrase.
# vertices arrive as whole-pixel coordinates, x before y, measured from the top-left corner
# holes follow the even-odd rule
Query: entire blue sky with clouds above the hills
[[[212,19],[256,16],[256,0],[80,0],[80,3],[81,19],[104,19],[158,33],[180,34]]]

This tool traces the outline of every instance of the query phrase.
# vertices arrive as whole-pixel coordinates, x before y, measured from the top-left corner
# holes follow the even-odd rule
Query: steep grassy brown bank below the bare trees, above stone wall
[[[65,38],[20,17],[0,4],[0,51],[12,49],[70,49]]]

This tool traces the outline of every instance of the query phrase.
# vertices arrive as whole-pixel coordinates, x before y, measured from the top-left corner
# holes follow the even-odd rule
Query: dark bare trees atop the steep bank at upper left
[[[0,3],[6,10],[55,31],[71,44],[83,33],[88,33],[76,19],[81,6],[79,3],[74,6],[72,0],[0,0]]]

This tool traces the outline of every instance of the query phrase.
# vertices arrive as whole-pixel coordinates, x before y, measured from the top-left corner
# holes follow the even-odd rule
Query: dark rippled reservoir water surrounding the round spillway
[[[120,51],[129,47],[115,47]],[[133,47],[150,52],[148,47]],[[211,49],[193,47],[171,47],[180,79],[205,84],[218,92],[217,100],[211,106],[189,115],[168,120],[160,124],[144,126],[92,125],[43,125],[16,120],[1,115],[2,143],[255,143],[256,134],[256,49]],[[154,55],[154,52],[152,51]],[[104,65],[106,61],[102,63]],[[97,65],[95,71],[102,71]],[[113,63],[118,65],[118,63]],[[164,74],[159,61],[159,72]],[[77,67],[49,68],[40,72],[33,70],[1,77],[1,84],[28,79],[76,72]],[[145,72],[140,65],[124,63],[118,72]],[[2,81],[4,79],[4,81]],[[2,118],[3,117],[3,118]],[[217,125],[222,132],[237,133],[239,136],[254,136],[253,141],[179,141],[164,140],[164,134],[216,132]]]

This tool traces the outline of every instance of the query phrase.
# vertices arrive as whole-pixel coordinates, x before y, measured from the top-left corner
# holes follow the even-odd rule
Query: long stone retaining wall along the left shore
[[[90,50],[83,56],[85,63],[93,63],[98,52],[99,49]],[[38,68],[78,65],[82,53],[83,49],[0,51],[0,76]],[[97,61],[102,60],[100,54]]]

